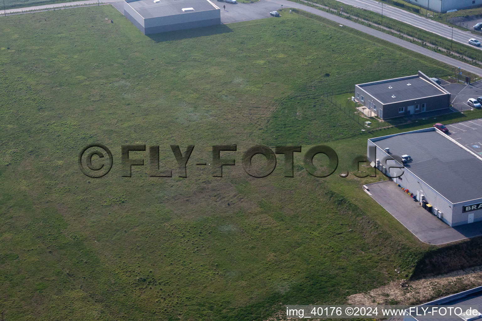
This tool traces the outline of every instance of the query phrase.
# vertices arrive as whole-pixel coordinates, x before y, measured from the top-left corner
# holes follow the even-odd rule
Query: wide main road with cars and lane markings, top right
[[[354,7],[363,8],[376,13],[382,13],[382,4],[375,0],[338,0],[340,2],[349,4]],[[439,36],[445,37],[447,39],[452,39],[452,30],[454,31],[454,41],[468,44],[470,38],[480,39],[482,41],[482,36],[475,36],[469,31],[463,31],[457,28],[452,28],[451,26],[444,25],[440,22],[430,20],[428,18],[422,17],[415,13],[407,12],[403,9],[390,6],[388,4],[383,4],[383,16],[387,16],[406,24],[419,27],[426,31],[432,32]],[[481,47],[476,47],[482,50]]]

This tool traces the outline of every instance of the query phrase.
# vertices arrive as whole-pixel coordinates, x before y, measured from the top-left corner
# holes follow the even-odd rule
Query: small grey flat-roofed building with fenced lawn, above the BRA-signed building
[[[355,101],[381,119],[410,116],[450,107],[450,92],[418,75],[355,85]]]

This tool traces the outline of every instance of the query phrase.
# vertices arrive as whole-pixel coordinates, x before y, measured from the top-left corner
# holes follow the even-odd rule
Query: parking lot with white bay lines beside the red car
[[[482,118],[446,125],[449,137],[472,152],[482,155]]]

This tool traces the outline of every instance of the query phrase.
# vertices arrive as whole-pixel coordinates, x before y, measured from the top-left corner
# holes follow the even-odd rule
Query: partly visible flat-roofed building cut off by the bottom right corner
[[[481,307],[482,286],[479,286],[407,309],[405,310],[407,313],[403,317],[403,321],[482,320],[482,313],[479,312]],[[451,312],[448,312],[449,310],[451,310]]]

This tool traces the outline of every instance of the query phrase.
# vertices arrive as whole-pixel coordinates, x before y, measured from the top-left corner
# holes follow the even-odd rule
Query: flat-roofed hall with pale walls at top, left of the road
[[[124,0],[124,15],[145,35],[221,23],[210,0]]]

